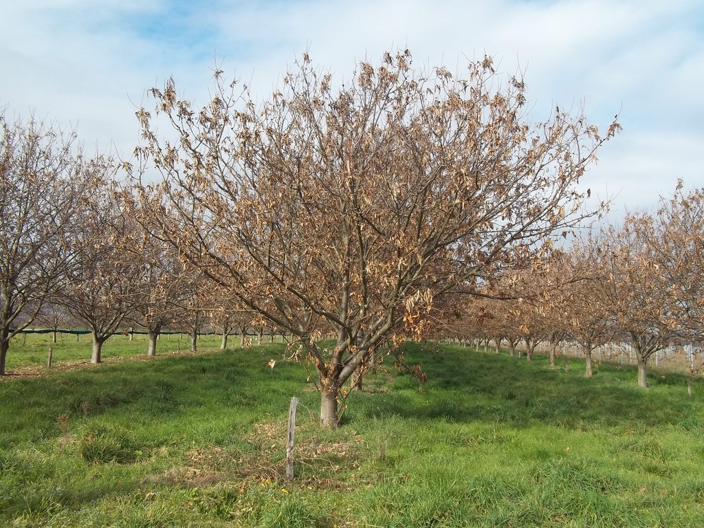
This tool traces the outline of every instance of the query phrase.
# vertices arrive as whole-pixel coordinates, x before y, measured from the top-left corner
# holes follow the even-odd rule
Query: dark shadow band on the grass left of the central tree
[[[301,392],[305,374],[280,359],[282,347],[125,361],[90,369],[11,379],[0,385],[0,441],[10,448],[60,434],[59,417],[91,420],[109,415],[118,422],[172,423],[222,413],[253,417],[285,414]]]

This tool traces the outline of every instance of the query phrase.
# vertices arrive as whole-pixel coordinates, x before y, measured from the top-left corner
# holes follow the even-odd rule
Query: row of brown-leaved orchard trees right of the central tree
[[[628,342],[646,387],[648,359],[704,341],[704,189],[678,185],[655,213],[629,213],[577,238],[539,268],[487,284],[484,298],[446,310],[439,336],[519,342],[527,358],[549,343],[551,365],[562,340],[575,341],[592,375],[592,352]],[[510,301],[505,299],[510,298]],[[696,367],[695,367],[696,368]]]

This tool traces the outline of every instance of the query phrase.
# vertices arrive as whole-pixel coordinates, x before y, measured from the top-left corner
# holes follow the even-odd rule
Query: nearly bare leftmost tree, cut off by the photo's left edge
[[[72,258],[68,228],[82,191],[74,140],[0,112],[0,375],[10,340],[32,324]]]

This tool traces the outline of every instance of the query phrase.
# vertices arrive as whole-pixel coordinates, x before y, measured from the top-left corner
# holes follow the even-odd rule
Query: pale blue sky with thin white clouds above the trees
[[[485,54],[522,73],[531,118],[555,106],[623,130],[583,180],[611,215],[704,187],[701,0],[0,0],[0,109],[129,159],[134,113],[173,77],[204,105],[215,68],[267,99],[308,52],[336,78],[385,51],[461,72]]]

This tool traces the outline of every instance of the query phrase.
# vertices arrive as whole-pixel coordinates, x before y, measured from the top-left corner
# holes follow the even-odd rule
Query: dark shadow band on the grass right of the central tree
[[[636,385],[636,370],[601,364],[584,377],[584,363],[569,371],[551,368],[544,356],[511,358],[464,348],[440,351],[406,346],[408,364],[420,364],[428,381],[399,372],[384,394],[356,396],[356,415],[398,415],[423,420],[509,422],[517,427],[543,422],[573,429],[592,425],[702,427],[701,398],[686,396],[684,375],[652,372],[650,389]],[[681,390],[677,390],[677,388]]]

